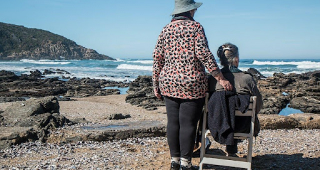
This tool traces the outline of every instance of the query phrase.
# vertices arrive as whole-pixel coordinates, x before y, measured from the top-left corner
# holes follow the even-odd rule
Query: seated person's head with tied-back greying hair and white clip
[[[239,52],[238,47],[231,43],[225,43],[218,48],[217,55],[220,64],[223,67],[230,68],[231,66],[238,67],[239,65]]]

